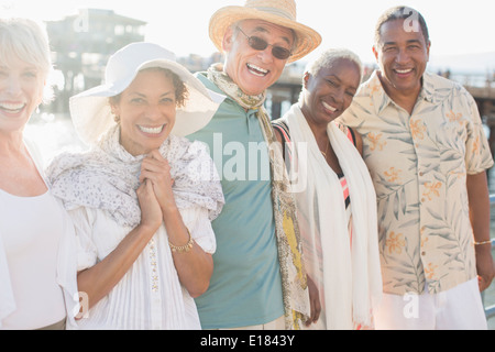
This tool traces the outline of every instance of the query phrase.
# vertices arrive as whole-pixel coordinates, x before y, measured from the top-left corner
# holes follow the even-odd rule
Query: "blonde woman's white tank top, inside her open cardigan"
[[[50,191],[16,197],[0,190],[0,227],[16,309],[3,329],[36,329],[63,320],[64,296],[57,284],[63,215]]]

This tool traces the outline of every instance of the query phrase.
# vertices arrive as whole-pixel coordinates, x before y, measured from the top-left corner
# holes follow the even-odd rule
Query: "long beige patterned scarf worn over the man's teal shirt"
[[[290,183],[284,164],[282,148],[273,132],[263,103],[265,94],[248,96],[223,73],[220,65],[208,69],[208,78],[224,94],[244,109],[257,109],[257,119],[270,147],[272,170],[272,198],[275,232],[278,244],[282,285],[287,330],[298,330],[309,316],[309,294],[304,267],[299,224],[296,218],[296,202],[290,193]]]

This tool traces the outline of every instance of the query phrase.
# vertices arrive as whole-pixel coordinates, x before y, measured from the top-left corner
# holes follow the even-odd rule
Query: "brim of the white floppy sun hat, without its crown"
[[[123,92],[140,70],[152,67],[174,72],[184,81],[188,90],[187,101],[183,107],[177,108],[172,134],[186,136],[209,123],[226,97],[207,89],[198,78],[180,64],[167,59],[155,59],[143,63],[136,69],[134,76],[119,81],[119,86],[114,84],[101,85],[70,98],[69,107],[73,123],[82,142],[89,145],[95,144],[105,132],[116,124],[109,98]]]

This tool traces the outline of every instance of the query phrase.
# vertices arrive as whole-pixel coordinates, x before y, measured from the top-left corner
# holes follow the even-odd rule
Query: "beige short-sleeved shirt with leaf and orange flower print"
[[[378,206],[384,292],[444,292],[476,276],[466,176],[493,166],[476,103],[460,85],[426,73],[413,114],[377,73],[342,122],[363,136]]]

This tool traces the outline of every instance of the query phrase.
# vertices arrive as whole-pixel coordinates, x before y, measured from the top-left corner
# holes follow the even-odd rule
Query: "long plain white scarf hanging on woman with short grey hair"
[[[307,143],[308,154],[296,154],[293,158],[307,161],[307,168],[298,167],[293,162],[292,174],[297,172],[299,180],[307,180],[306,190],[296,194],[296,199],[301,235],[305,243],[311,244],[304,246],[305,257],[314,258],[312,263],[307,263],[308,272],[320,275],[319,279],[324,285],[320,295],[324,295],[326,327],[340,330],[353,329],[356,324],[370,326],[372,308],[382,296],[382,275],[376,196],[366,165],[338,125],[329,123],[327,133],[350,190],[353,219],[351,244],[338,175],[322,156],[300,108],[293,106],[284,120],[289,128],[293,145]],[[298,147],[294,147],[293,153],[297,152]],[[315,248],[316,237],[321,237],[320,254]],[[309,251],[310,255],[306,255]]]

